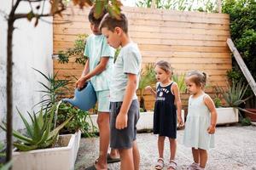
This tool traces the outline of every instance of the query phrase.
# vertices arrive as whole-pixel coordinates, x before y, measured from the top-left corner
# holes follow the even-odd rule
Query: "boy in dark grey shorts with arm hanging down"
[[[100,29],[113,48],[121,46],[113,68],[110,86],[110,147],[119,150],[121,170],[138,170],[140,155],[137,149],[138,88],[142,56],[137,44],[128,36],[125,14],[115,19],[106,14]]]

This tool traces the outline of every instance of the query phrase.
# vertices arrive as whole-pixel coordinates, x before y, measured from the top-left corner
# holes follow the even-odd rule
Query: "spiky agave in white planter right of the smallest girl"
[[[217,124],[239,122],[239,110],[244,111],[239,105],[247,100],[244,99],[247,86],[248,85],[245,85],[241,80],[233,80],[231,85],[227,85],[226,89],[220,87],[216,88],[217,93],[223,97],[225,102],[224,105],[221,105],[222,107],[217,108]]]

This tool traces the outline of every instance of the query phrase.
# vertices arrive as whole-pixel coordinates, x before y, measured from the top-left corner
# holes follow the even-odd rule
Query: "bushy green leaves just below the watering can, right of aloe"
[[[81,111],[72,105],[61,103],[58,110],[57,125],[65,122],[70,116],[73,116],[73,119],[67,122],[67,125],[61,129],[61,134],[75,133],[81,130],[81,133],[85,136],[91,137],[96,132],[96,127],[91,122],[88,111]]]

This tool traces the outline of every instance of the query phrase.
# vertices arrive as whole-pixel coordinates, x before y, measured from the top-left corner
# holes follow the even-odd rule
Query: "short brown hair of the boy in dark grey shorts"
[[[102,22],[100,24],[100,30],[102,30],[103,27],[108,28],[110,31],[114,31],[115,27],[121,28],[125,33],[128,32],[128,20],[125,16],[125,14],[120,13],[119,19],[111,16],[110,14],[105,14],[104,18],[102,19]]]

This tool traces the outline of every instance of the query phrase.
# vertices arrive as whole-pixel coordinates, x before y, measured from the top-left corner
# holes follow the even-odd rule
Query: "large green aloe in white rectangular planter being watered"
[[[35,167],[42,169],[73,169],[75,144],[73,134],[59,136],[59,131],[69,122],[70,116],[58,127],[53,127],[56,105],[49,111],[41,109],[36,113],[28,113],[32,124],[18,111],[26,127],[26,133],[13,130],[15,150],[13,153],[13,169],[28,170]],[[6,123],[0,127],[6,131]],[[61,162],[61,163],[59,163]]]

